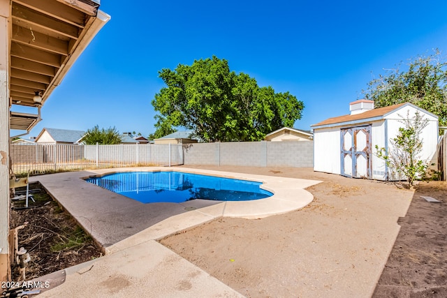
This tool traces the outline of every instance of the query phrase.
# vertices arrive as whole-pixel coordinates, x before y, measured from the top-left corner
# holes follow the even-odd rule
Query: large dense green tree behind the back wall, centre
[[[271,131],[293,126],[304,108],[292,94],[258,87],[254,78],[230,71],[228,61],[214,56],[164,68],[159,77],[167,87],[152,100],[160,113],[157,131],[183,126],[205,142],[263,140]]]

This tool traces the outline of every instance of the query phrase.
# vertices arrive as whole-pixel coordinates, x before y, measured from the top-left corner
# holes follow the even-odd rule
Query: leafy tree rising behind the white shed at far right
[[[409,101],[436,114],[439,126],[447,126],[447,62],[439,51],[413,59],[404,65],[406,71],[399,68],[369,82],[365,97],[376,107]]]

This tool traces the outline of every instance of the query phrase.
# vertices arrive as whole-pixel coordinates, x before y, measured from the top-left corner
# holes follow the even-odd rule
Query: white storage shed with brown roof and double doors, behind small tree
[[[416,112],[428,120],[422,131],[423,152],[420,158],[431,161],[437,151],[438,117],[411,103],[374,109],[372,100],[350,103],[351,114],[334,117],[312,125],[314,129],[314,170],[346,177],[395,180],[385,161],[376,156],[376,145],[390,149],[402,121]]]

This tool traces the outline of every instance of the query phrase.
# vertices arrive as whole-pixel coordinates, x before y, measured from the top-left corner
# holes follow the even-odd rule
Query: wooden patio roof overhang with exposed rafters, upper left
[[[110,17],[91,0],[12,0],[10,7],[10,103],[36,106],[38,92],[43,104]]]

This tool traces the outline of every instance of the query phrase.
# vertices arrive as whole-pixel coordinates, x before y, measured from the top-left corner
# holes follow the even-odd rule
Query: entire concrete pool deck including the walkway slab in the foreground
[[[263,188],[274,195],[244,202],[142,204],[82,179],[110,172],[154,170],[262,181]],[[221,216],[263,218],[300,209],[313,199],[304,188],[321,182],[186,167],[64,172],[32,177],[30,181],[41,182],[106,253],[103,258],[66,269],[65,282],[40,297],[80,297],[86,292],[89,297],[242,297],[156,240]]]

